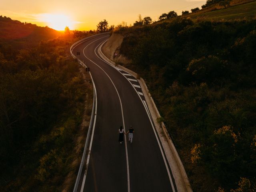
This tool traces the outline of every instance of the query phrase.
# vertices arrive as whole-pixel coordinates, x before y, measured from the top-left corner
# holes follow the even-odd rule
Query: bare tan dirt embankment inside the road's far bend
[[[102,46],[103,54],[115,63],[128,64],[130,60],[120,54],[120,46],[123,42],[124,36],[113,33],[108,41]]]

